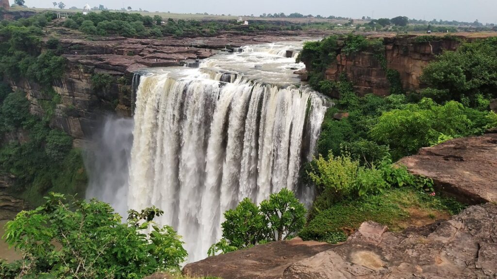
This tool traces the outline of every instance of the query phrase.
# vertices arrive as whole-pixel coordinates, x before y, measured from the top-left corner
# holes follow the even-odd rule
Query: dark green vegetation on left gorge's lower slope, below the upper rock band
[[[9,92],[2,84],[0,132],[7,143],[0,147],[0,172],[14,177],[7,189],[13,196],[37,206],[49,191],[80,194],[86,188],[81,150],[72,148],[72,138],[50,129],[48,122],[29,113],[26,93]],[[26,139],[17,140],[16,135]],[[12,139],[8,141],[8,138]]]

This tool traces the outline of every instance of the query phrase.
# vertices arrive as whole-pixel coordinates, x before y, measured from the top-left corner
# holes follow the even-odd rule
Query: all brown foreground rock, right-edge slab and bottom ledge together
[[[497,134],[448,140],[398,163],[473,206],[403,232],[364,222],[338,245],[299,238],[256,245],[188,264],[183,273],[223,279],[496,279]]]

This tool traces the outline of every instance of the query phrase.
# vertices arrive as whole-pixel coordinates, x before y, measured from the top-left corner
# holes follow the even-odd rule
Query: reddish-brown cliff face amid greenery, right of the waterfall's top
[[[435,59],[444,50],[455,50],[459,41],[454,38],[440,38],[433,41],[419,42],[416,36],[398,36],[383,38],[387,69],[397,70],[405,90],[416,90],[423,86],[419,80],[423,67]],[[306,63],[307,70],[312,70]],[[329,80],[338,81],[345,73],[354,84],[356,91],[362,95],[373,93],[380,96],[389,94],[390,83],[386,70],[383,69],[375,54],[362,51],[351,55],[338,54],[325,72]]]

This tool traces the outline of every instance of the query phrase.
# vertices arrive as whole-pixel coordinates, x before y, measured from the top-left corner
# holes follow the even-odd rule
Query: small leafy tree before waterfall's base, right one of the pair
[[[269,200],[260,203],[260,212],[271,224],[272,232],[269,237],[274,241],[280,241],[292,236],[300,230],[306,222],[306,209],[295,194],[283,188],[279,193],[271,194]]]

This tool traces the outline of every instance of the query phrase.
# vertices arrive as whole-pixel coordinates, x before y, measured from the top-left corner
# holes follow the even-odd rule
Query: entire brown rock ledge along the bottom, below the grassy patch
[[[312,243],[257,245],[188,264],[183,273],[224,279],[495,279],[497,206],[472,206],[450,220],[402,233],[365,222],[340,245]]]

